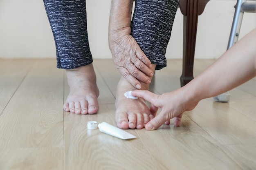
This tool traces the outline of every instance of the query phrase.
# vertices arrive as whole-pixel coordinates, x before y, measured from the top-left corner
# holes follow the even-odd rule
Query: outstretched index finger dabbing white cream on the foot
[[[159,95],[156,95],[150,91],[136,90],[136,91],[132,91],[132,95],[137,97],[142,97],[148,102],[150,102],[151,104],[153,104],[154,106],[157,106],[156,102]]]

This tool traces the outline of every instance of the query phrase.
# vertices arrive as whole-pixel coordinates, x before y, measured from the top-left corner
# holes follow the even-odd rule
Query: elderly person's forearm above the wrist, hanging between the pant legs
[[[109,38],[130,34],[133,0],[112,0],[109,18]]]

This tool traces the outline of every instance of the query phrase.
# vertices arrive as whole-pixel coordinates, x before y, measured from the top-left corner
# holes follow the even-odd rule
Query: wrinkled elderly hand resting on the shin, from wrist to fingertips
[[[110,51],[115,66],[126,80],[137,89],[141,82],[149,84],[154,73],[150,69],[151,62],[143,53],[136,40],[131,35],[120,35],[110,39]]]

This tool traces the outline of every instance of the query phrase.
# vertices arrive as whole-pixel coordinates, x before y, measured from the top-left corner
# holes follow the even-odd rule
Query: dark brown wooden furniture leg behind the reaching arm
[[[183,65],[180,77],[181,86],[189,83],[193,77],[195,40],[198,26],[198,15],[204,11],[209,0],[180,0],[179,6],[184,15],[183,23]]]

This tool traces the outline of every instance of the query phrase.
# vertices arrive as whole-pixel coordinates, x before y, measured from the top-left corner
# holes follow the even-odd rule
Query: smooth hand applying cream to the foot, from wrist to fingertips
[[[162,95],[142,90],[132,91],[132,95],[142,97],[150,102],[150,112],[152,114],[156,114],[158,108],[161,109],[161,112],[146,124],[146,130],[155,130],[164,123],[168,125],[173,117],[175,126],[180,126],[182,114],[185,111],[193,110],[199,102],[187,99],[181,88]]]

